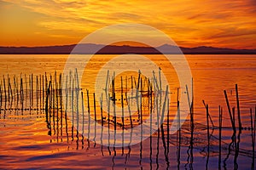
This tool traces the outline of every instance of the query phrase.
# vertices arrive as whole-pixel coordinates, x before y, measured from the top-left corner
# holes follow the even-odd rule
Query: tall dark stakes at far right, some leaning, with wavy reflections
[[[230,116],[230,124],[232,126],[233,129],[233,134],[231,137],[231,143],[229,144],[229,148],[228,148],[228,154],[227,156],[224,158],[224,168],[226,169],[226,161],[229,159],[229,156],[231,154],[231,145],[234,144],[235,145],[235,156],[234,156],[234,169],[238,169],[238,164],[237,164],[237,157],[239,155],[239,144],[240,144],[240,136],[241,136],[241,130],[246,130],[247,127],[242,127],[241,125],[241,111],[240,111],[240,103],[239,103],[239,94],[238,94],[238,86],[236,84],[236,107],[232,107],[232,111],[230,109],[230,100],[228,99],[228,94],[226,92],[226,90],[224,90],[224,98],[226,101],[226,105],[227,105],[227,109],[229,112],[229,116]],[[212,134],[210,134],[210,123],[212,124],[212,129],[214,129],[216,126],[214,126],[213,122],[212,122],[212,118],[209,114],[209,106],[206,105],[205,101],[202,100],[203,105],[206,108],[206,112],[207,112],[207,164],[206,164],[206,169],[208,169],[208,161],[209,161],[209,156],[210,156],[210,140],[211,140],[211,136]],[[237,110],[237,111],[236,111]],[[236,135],[237,132],[237,126],[236,126],[236,112],[237,112],[237,122],[238,122],[238,134]],[[252,162],[252,169],[254,169],[255,167],[255,130],[256,130],[256,106],[255,106],[255,114],[254,114],[254,118],[253,118],[253,110],[250,109],[250,118],[251,118],[251,127],[248,127],[249,130],[251,130],[251,137],[252,137],[252,158],[253,158],[253,162]],[[223,108],[219,105],[218,106],[218,168],[221,169],[221,159],[222,159],[222,122],[223,122]],[[254,120],[254,121],[253,121]],[[213,131],[212,131],[213,133]]]

